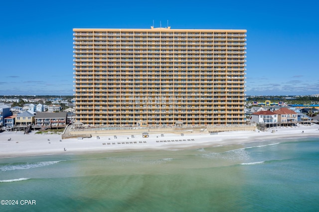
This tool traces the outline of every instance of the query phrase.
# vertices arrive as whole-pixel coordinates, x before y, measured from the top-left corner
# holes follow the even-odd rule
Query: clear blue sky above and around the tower
[[[73,95],[73,28],[247,29],[247,95],[319,94],[318,0],[1,0],[0,95]]]

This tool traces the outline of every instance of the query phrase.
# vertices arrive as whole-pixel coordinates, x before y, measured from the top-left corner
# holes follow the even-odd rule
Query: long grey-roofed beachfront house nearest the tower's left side
[[[67,112],[38,112],[34,119],[36,126],[65,126]]]

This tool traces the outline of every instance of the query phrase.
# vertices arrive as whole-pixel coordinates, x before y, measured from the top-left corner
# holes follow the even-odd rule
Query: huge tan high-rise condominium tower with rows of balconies
[[[73,29],[76,119],[243,124],[246,30]]]

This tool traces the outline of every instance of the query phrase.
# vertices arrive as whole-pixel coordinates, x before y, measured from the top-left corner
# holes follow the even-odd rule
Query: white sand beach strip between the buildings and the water
[[[273,131],[274,130],[274,131]],[[319,125],[298,127],[277,127],[267,131],[229,131],[218,134],[186,133],[142,134],[97,136],[91,138],[63,139],[61,134],[23,134],[22,131],[0,133],[0,158],[47,154],[79,154],[93,152],[132,151],[132,150],[178,150],[203,148],[216,145],[239,144],[270,139],[319,137]]]

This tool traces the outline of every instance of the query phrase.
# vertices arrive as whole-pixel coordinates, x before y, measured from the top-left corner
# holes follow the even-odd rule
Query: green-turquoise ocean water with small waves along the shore
[[[1,212],[314,212],[319,138],[2,158],[0,200]]]

